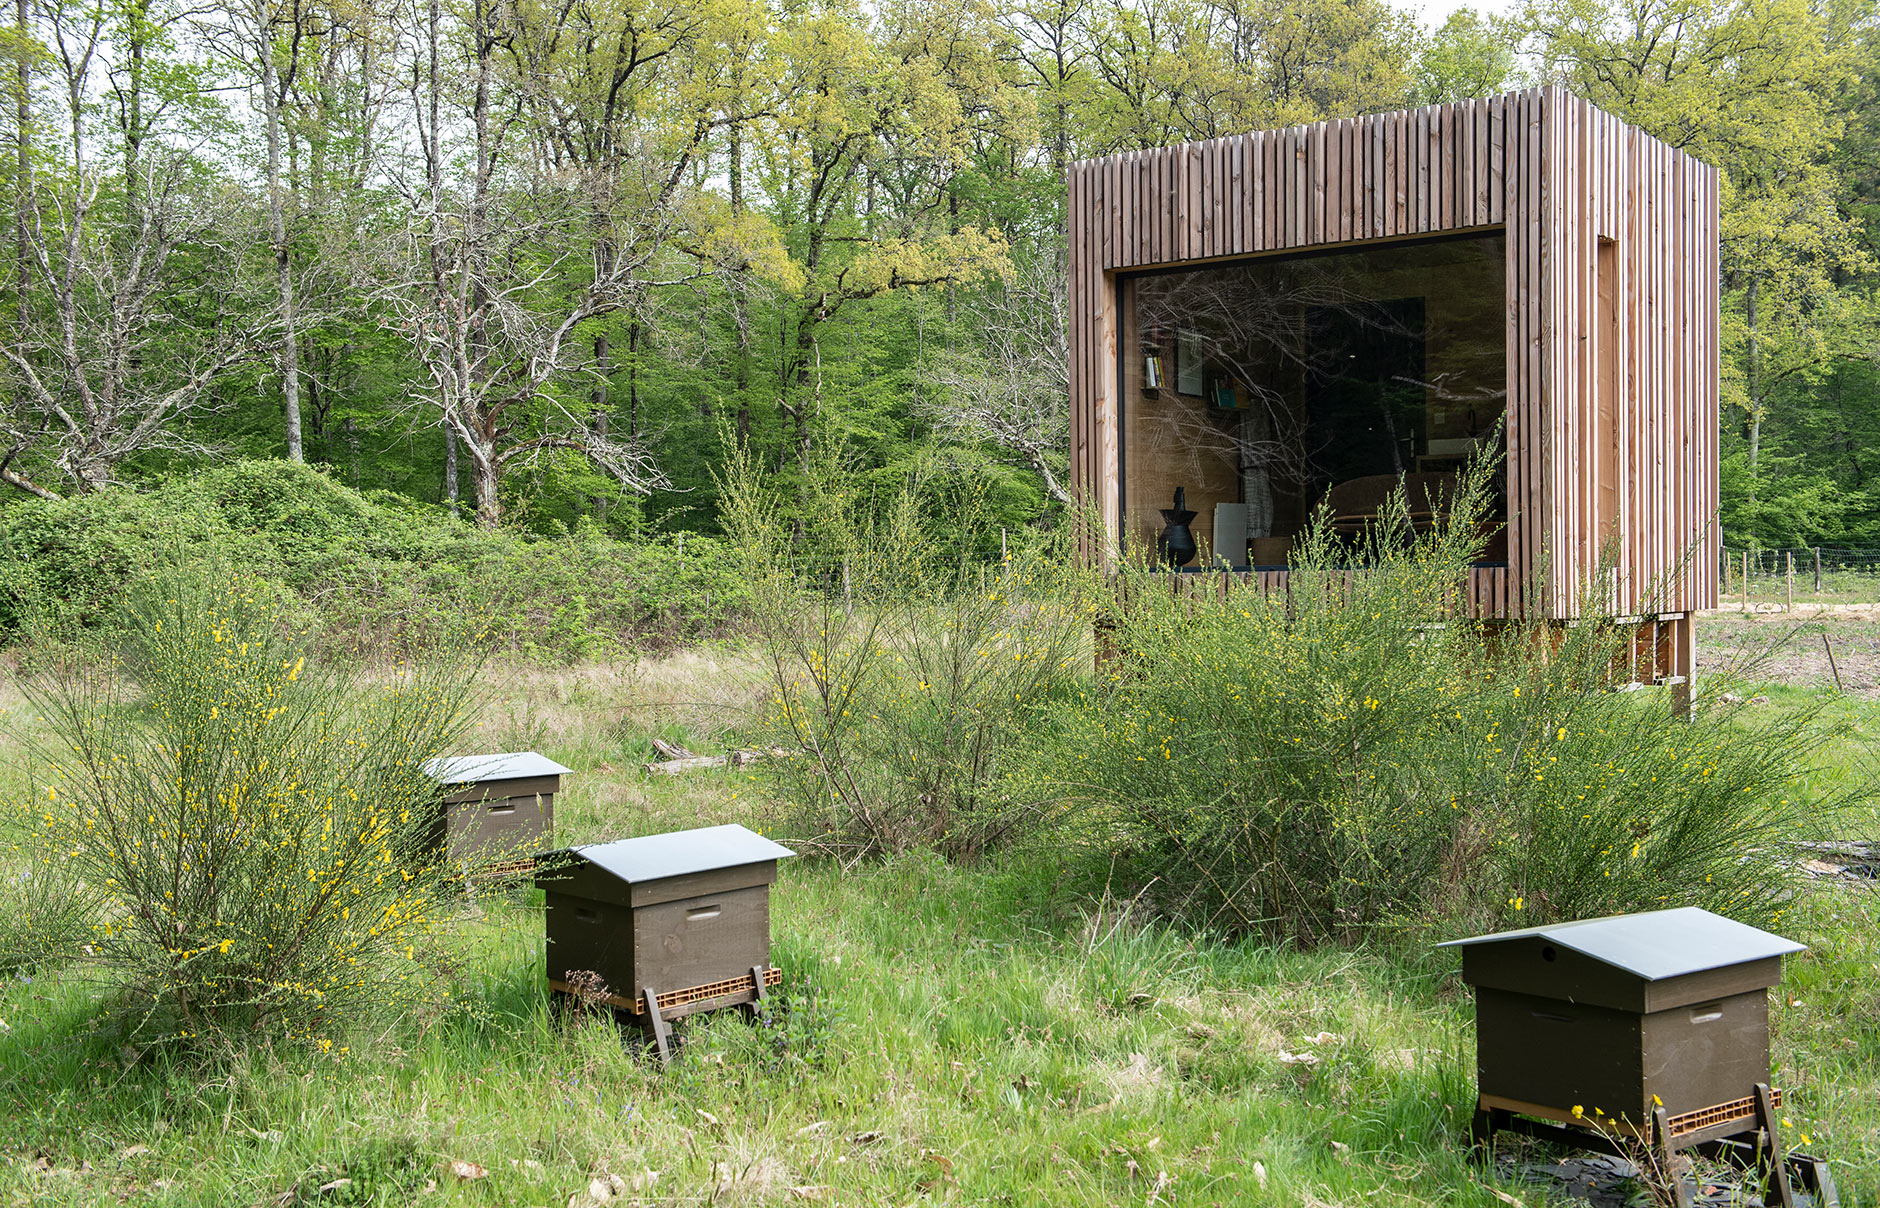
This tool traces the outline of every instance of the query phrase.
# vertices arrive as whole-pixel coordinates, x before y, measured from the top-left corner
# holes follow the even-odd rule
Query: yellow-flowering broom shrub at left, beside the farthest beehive
[[[111,667],[28,688],[53,738],[24,847],[88,887],[68,954],[158,1033],[333,1046],[447,994],[451,881],[419,765],[464,723],[464,669],[316,669],[261,586],[216,569],[158,575],[120,626]]]

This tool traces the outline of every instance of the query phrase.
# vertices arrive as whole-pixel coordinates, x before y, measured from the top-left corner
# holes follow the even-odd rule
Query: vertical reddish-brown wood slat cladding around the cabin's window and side
[[[1502,227],[1515,575],[1472,584],[1470,611],[1564,620],[1594,588],[1621,614],[1716,605],[1715,169],[1559,88],[1532,88],[1085,160],[1068,201],[1072,481],[1111,532],[1119,271]],[[1602,242],[1619,327],[1604,346],[1617,364],[1594,331]],[[1602,372],[1619,400],[1606,428]],[[1598,447],[1602,432],[1617,451]],[[1607,584],[1594,582],[1602,460],[1619,466]]]

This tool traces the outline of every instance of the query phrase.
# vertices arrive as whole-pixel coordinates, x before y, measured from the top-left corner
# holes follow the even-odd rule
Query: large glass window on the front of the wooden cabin
[[[1440,515],[1506,410],[1504,274],[1487,235],[1124,278],[1124,528],[1152,545],[1181,488],[1188,565],[1241,567],[1320,502],[1354,535],[1399,483]]]

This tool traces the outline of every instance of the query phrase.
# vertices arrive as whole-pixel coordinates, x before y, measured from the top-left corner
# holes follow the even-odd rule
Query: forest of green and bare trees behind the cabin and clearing
[[[481,526],[713,534],[741,440],[1049,524],[1066,163],[1560,83],[1722,169],[1726,543],[1880,545],[1869,0],[6,11],[15,522],[288,458]]]

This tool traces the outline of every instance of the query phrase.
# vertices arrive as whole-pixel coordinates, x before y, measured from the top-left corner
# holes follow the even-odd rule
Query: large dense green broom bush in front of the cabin
[[[1126,562],[1120,654],[1040,731],[1030,793],[1094,808],[1085,834],[1147,900],[1233,932],[1683,904],[1767,922],[1778,840],[1803,825],[1807,712],[1677,721],[1662,691],[1609,689],[1619,626],[1457,616],[1480,485],[1434,534],[1401,505],[1359,550],[1316,524],[1284,597]]]

